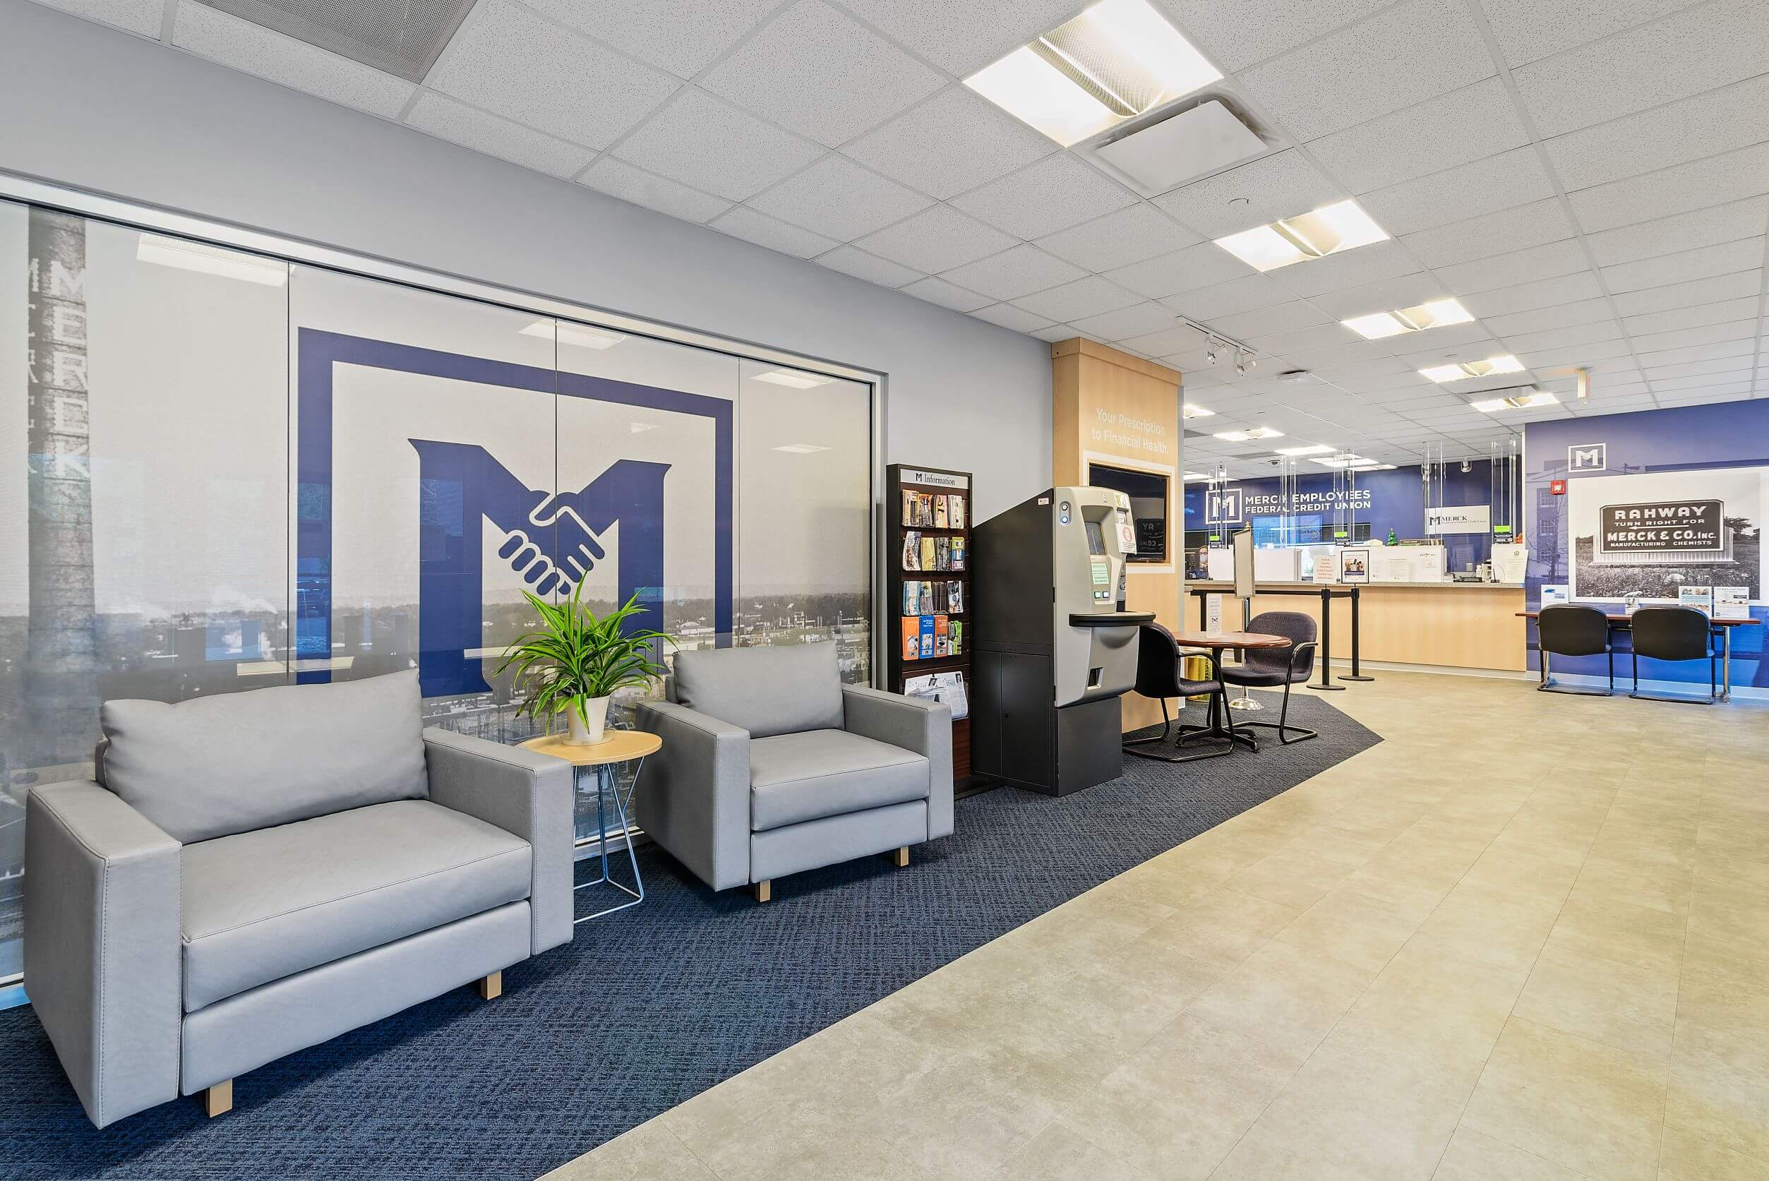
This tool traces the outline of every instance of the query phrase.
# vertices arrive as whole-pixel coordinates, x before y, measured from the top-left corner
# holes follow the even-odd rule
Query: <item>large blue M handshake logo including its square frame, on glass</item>
[[[396,370],[449,380],[593,398],[692,414],[713,426],[713,628],[731,644],[732,619],[732,403],[633,382],[543,370],[508,361],[394,345],[318,329],[299,331],[295,619],[301,684],[331,681],[333,656],[333,371],[338,364]],[[663,479],[667,463],[619,460],[578,490],[536,491],[476,444],[412,438],[419,458],[419,681],[426,697],[485,693],[483,530],[509,534],[499,559],[536,594],[577,582],[603,560],[601,537],[619,523],[616,582],[637,592],[639,626],[662,628]]]

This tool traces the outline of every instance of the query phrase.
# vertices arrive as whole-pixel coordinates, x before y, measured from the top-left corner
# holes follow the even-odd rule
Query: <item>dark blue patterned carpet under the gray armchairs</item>
[[[1291,718],[1321,737],[971,796],[907,870],[801,873],[768,905],[647,847],[644,905],[506,971],[502,999],[456,988],[264,1066],[214,1121],[191,1098],[94,1130],[35,1015],[4,1011],[0,1177],[529,1181],[1380,741],[1313,695]]]

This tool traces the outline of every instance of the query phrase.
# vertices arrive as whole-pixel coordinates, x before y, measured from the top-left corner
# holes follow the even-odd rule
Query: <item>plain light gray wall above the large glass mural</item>
[[[27,0],[0,170],[890,375],[884,454],[1051,484],[1051,355],[1008,332]],[[23,283],[23,276],[12,276]]]

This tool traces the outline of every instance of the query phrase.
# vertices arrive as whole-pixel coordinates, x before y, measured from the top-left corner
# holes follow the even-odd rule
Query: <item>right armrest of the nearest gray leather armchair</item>
[[[571,942],[577,827],[571,764],[467,734],[425,730],[430,799],[529,842],[531,955]]]

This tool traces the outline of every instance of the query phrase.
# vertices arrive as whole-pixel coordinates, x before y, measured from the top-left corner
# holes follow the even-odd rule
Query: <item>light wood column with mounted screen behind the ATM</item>
[[[1180,576],[1185,545],[1185,490],[1180,469],[1178,370],[1072,338],[1051,345],[1053,447],[1056,484],[1088,484],[1090,467],[1148,472],[1168,479],[1168,560],[1130,562],[1125,606],[1155,612],[1168,628],[1183,626]],[[1123,728],[1160,721],[1160,704],[1123,695]]]

